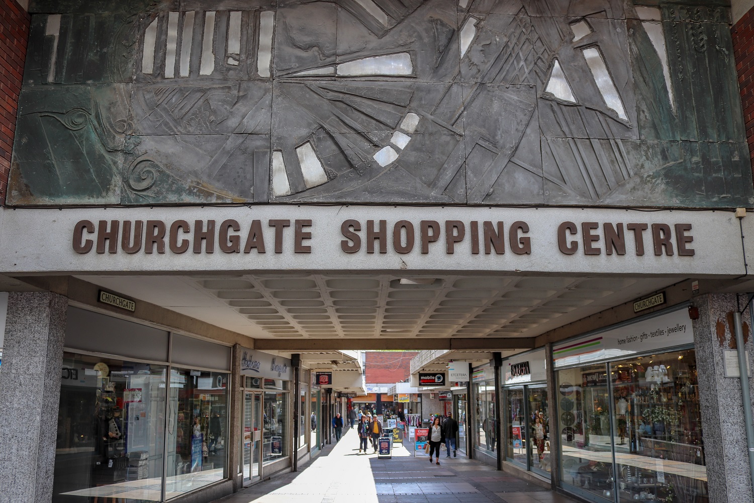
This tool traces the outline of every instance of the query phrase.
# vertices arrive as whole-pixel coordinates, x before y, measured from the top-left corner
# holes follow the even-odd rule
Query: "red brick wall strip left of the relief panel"
[[[0,0],[0,204],[5,204],[16,109],[21,91],[29,14],[15,0]]]

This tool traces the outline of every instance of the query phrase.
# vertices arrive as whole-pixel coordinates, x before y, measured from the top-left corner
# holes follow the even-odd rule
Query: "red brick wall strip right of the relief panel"
[[[743,124],[746,126],[746,140],[749,142],[749,158],[754,167],[754,8],[733,25],[731,35],[741,90]]]

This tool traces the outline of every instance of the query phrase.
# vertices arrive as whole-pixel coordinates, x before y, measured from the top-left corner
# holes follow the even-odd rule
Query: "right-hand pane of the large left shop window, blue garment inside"
[[[228,458],[228,374],[170,372],[166,497],[223,480]]]

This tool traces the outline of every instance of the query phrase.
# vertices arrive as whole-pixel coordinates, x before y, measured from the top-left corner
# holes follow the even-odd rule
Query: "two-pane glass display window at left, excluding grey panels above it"
[[[228,375],[167,368],[63,355],[52,501],[159,501],[163,483],[178,495],[225,478]]]

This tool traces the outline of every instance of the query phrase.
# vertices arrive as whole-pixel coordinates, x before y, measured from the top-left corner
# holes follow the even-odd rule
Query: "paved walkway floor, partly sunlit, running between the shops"
[[[297,474],[259,483],[216,503],[575,503],[480,462],[416,457],[403,447],[391,459],[359,453],[355,431],[326,446]]]

